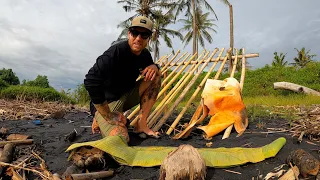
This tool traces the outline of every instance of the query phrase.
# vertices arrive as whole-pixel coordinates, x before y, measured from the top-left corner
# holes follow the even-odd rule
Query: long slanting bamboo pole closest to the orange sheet
[[[190,104],[193,102],[193,100],[196,98],[197,94],[200,92],[200,90],[203,88],[203,85],[206,83],[207,79],[210,76],[210,73],[213,71],[213,69],[215,68],[215,66],[218,64],[219,59],[222,55],[224,51],[224,48],[221,49],[219,55],[217,58],[215,58],[216,61],[214,61],[213,65],[211,66],[211,68],[209,69],[209,71],[207,72],[206,76],[202,79],[201,83],[198,85],[197,89],[194,91],[194,93],[192,94],[192,96],[190,97],[190,99],[188,100],[187,104],[184,106],[184,108],[182,109],[182,111],[180,112],[180,114],[176,117],[176,119],[174,120],[174,122],[171,124],[171,126],[169,127],[168,131],[167,131],[167,135],[170,135],[171,132],[173,131],[173,129],[178,125],[180,119],[182,118],[182,116],[184,115],[184,113],[187,111],[188,107],[190,106]]]

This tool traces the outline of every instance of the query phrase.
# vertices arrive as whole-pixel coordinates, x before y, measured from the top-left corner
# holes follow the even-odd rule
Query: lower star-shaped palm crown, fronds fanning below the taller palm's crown
[[[193,39],[194,47],[196,47],[196,51],[198,51],[198,41],[200,45],[205,48],[204,39],[206,39],[209,43],[212,43],[212,36],[208,32],[211,30],[216,33],[216,30],[213,29],[213,26],[216,26],[212,22],[215,21],[214,19],[208,19],[209,12],[203,14],[202,10],[198,8],[195,12],[194,18],[189,17],[188,19],[180,19],[179,21],[184,24],[184,27],[181,28],[179,31],[187,31],[183,41],[185,42],[185,46],[190,42],[190,40],[194,37],[194,34],[197,34],[197,38]],[[197,21],[195,28],[193,27],[194,21]],[[194,53],[195,53],[194,52]]]

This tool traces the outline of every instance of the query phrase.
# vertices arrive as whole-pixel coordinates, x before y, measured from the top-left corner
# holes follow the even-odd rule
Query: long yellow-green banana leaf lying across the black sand
[[[266,158],[274,157],[286,143],[281,137],[268,145],[258,148],[198,148],[206,162],[206,166],[222,168],[231,167],[248,162],[257,163]],[[128,166],[152,167],[160,166],[167,154],[176,147],[161,146],[128,146],[119,136],[107,136],[91,142],[72,144],[66,151],[81,146],[92,146],[110,154],[118,163]]]

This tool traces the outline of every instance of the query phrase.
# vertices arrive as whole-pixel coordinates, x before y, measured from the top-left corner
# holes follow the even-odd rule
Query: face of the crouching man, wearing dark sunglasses
[[[134,27],[130,28],[128,31],[129,37],[129,46],[131,51],[139,55],[141,51],[147,47],[149,39],[150,39],[150,31],[142,27]]]

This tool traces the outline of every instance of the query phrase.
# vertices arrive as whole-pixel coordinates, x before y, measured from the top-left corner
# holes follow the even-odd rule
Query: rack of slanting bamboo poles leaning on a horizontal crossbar
[[[178,104],[184,99],[185,95],[190,91],[191,87],[199,78],[202,71],[207,66],[209,66],[209,70],[207,71],[205,77],[202,79],[201,83],[198,85],[197,89],[193,92],[192,96],[190,97],[190,99],[188,100],[184,108],[181,110],[180,114],[176,117],[172,125],[167,130],[166,133],[168,135],[171,134],[171,132],[175,129],[175,127],[178,125],[179,121],[183,117],[184,113],[187,111],[188,107],[194,101],[198,93],[203,89],[206,83],[206,80],[209,78],[211,72],[214,70],[217,64],[221,62],[220,67],[214,76],[214,79],[219,79],[219,76],[222,70],[224,69],[226,61],[230,57],[229,53],[231,52],[231,49],[229,49],[226,52],[226,54],[222,56],[224,52],[224,48],[222,48],[218,53],[218,56],[214,58],[214,56],[217,54],[218,51],[219,51],[218,48],[214,49],[214,51],[211,54],[209,51],[203,51],[196,60],[195,60],[195,57],[197,54],[194,54],[191,56],[191,54],[184,53],[175,62],[173,62],[175,58],[178,56],[178,54],[180,53],[180,50],[179,50],[170,60],[169,58],[172,54],[168,56],[162,56],[157,61],[157,63],[160,64],[162,67],[161,72],[163,75],[163,80],[161,83],[161,90],[158,94],[158,101],[160,103],[157,105],[157,107],[155,107],[155,109],[150,113],[148,117],[148,126],[150,128],[152,128],[154,131],[158,131],[162,127],[162,125],[166,123],[166,120],[172,115],[173,111],[176,109]],[[253,57],[259,56],[259,54],[245,54],[244,51],[245,50],[242,49],[243,55],[237,55],[238,50],[236,49],[236,55],[232,56],[233,67],[230,74],[230,77],[234,76],[234,73],[236,71],[237,61],[238,59],[242,58],[242,71],[241,71],[241,79],[240,79],[241,89],[243,87],[244,78],[245,78],[246,58],[253,58]],[[167,74],[169,69],[172,69],[172,71],[170,74]],[[178,77],[180,75],[182,77],[178,80]],[[168,91],[168,89],[174,83],[175,83],[175,86],[171,88],[170,91]],[[160,97],[163,97],[163,98],[160,98]],[[198,108],[200,108],[200,105]],[[137,122],[138,116],[136,114],[138,113],[139,110],[140,110],[140,106],[134,109],[134,111],[127,117],[129,120],[131,120],[130,125],[134,125]],[[232,130],[232,126],[228,127],[225,131],[225,135],[223,136],[223,138],[229,137],[231,130]]]

